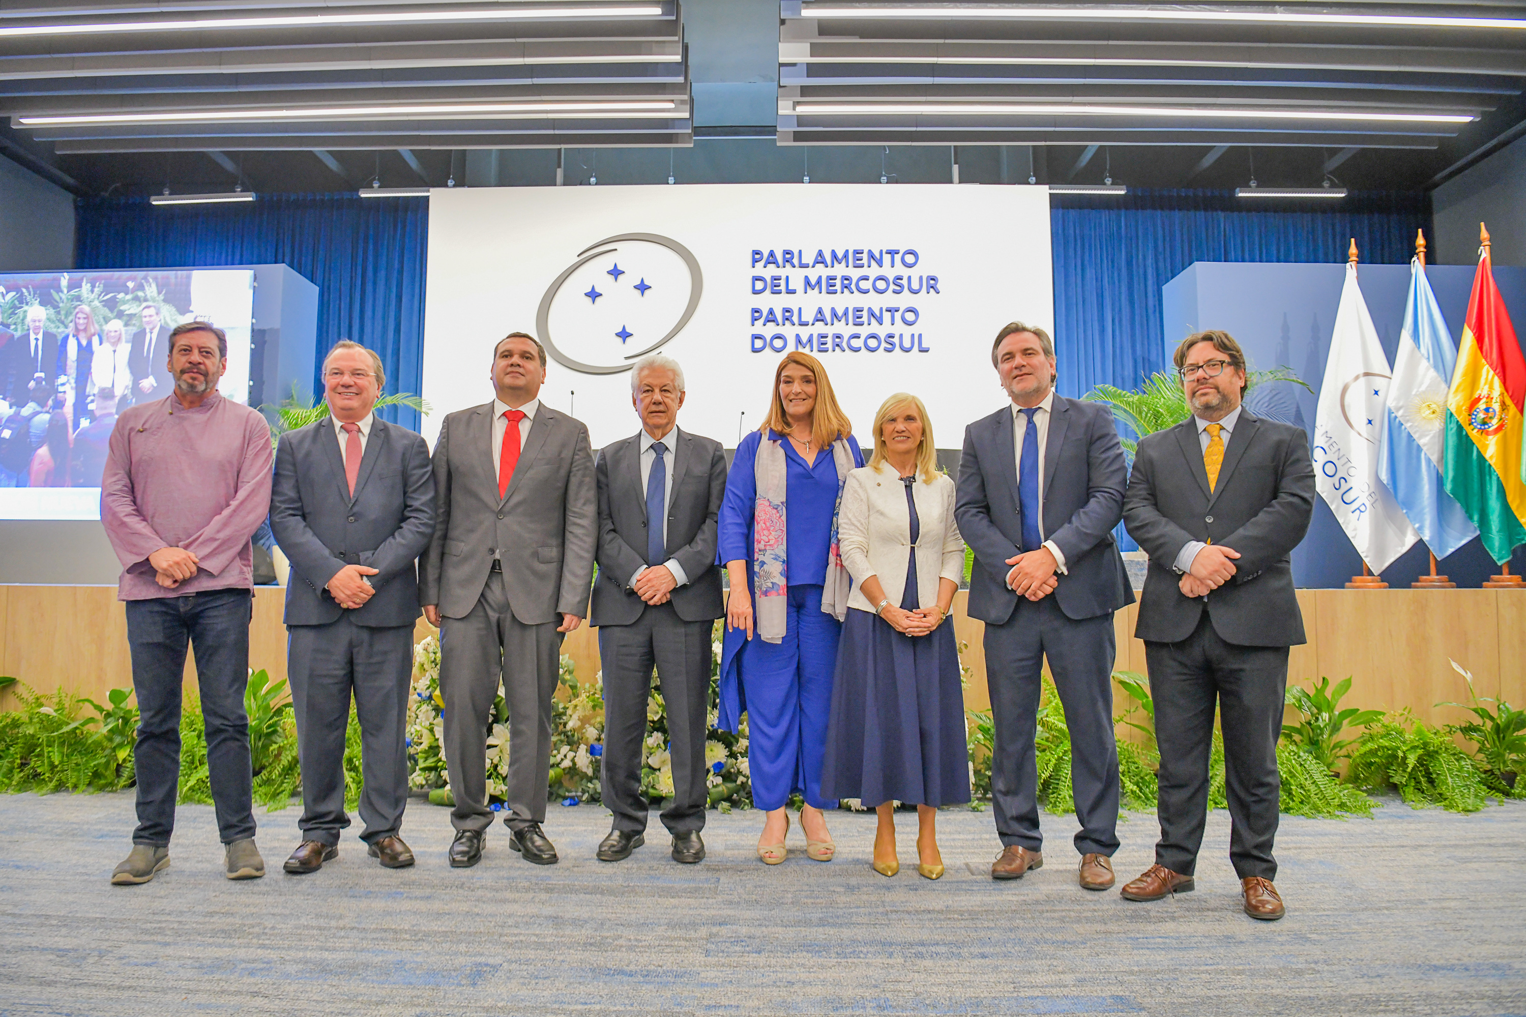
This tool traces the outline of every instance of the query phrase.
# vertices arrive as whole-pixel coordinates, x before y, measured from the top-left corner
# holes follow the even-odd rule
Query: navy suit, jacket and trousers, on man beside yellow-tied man
[[[1117,851],[1119,750],[1112,736],[1112,613],[1134,601],[1112,528],[1128,468],[1109,410],[1054,396],[1044,445],[1042,534],[1065,558],[1053,593],[1029,601],[1007,585],[1022,512],[1012,407],[964,430],[954,517],[975,552],[969,613],[986,622],[986,680],[996,746],[990,793],[1004,845],[1039,851],[1036,714],[1045,657],[1065,706],[1076,849]]]

